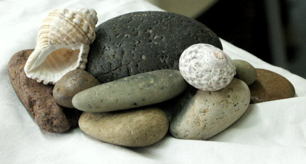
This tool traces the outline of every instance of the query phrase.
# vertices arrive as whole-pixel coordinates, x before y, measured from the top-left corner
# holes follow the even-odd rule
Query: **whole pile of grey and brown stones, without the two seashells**
[[[236,75],[225,88],[194,88],[178,63],[182,52],[197,43],[222,49],[217,35],[194,19],[133,12],[96,28],[86,70],[68,72],[55,86],[43,85],[25,76],[23,66],[32,52],[25,50],[9,61],[9,77],[43,130],[62,133],[78,124],[93,138],[127,147],[152,145],[167,132],[178,139],[206,140],[239,119],[250,100],[295,96],[287,79],[243,60],[232,61]]]

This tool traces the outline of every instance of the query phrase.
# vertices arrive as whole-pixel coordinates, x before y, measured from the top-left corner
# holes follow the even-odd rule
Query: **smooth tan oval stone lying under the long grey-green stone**
[[[145,147],[160,141],[169,122],[159,108],[139,108],[116,112],[83,112],[80,129],[87,135],[115,145]]]

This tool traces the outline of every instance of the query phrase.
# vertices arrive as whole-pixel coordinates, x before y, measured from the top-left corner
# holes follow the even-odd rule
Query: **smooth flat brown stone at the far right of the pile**
[[[256,71],[257,79],[249,86],[251,104],[295,97],[295,88],[288,79],[266,69]]]

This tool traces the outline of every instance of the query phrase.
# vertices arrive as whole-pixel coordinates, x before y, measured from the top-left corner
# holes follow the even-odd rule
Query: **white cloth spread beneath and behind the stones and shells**
[[[297,97],[250,105],[207,141],[167,135],[149,147],[126,148],[79,128],[63,134],[40,130],[12,89],[7,63],[15,52],[35,47],[38,26],[50,10],[76,7],[96,9],[98,24],[127,12],[161,10],[142,0],[0,0],[0,164],[306,164],[306,80],[224,40],[232,59],[285,76]]]

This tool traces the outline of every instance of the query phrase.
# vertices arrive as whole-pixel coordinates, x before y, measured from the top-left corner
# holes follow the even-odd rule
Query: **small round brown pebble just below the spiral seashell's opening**
[[[54,85],[53,98],[63,107],[74,108],[72,98],[75,94],[99,84],[100,82],[92,74],[76,69],[66,73]]]

